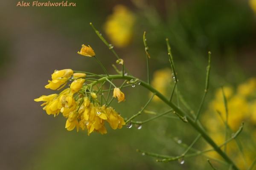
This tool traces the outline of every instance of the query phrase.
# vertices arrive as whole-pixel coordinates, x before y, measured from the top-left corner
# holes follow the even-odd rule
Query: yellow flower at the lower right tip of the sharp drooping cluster
[[[106,108],[106,114],[108,115],[107,122],[112,127],[112,129],[122,128],[122,125],[125,125],[124,119],[113,110],[113,108]]]

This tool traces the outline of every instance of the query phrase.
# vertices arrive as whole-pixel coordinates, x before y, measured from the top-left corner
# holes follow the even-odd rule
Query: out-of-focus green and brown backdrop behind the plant
[[[185,159],[181,165],[177,161],[159,163],[135,151],[182,154],[184,148],[163,133],[190,144],[197,133],[179,120],[159,118],[140,130],[134,126],[111,130],[107,125],[107,134],[87,136],[86,131],[67,131],[63,116],[47,115],[34,99],[53,93],[44,85],[54,70],[103,74],[96,60],[77,54],[82,44],[90,45],[107,70],[115,74],[111,65],[116,58],[95,34],[92,22],[114,45],[131,74],[142,80],[147,78],[143,32],[147,32],[151,78],[154,71],[170,67],[165,41],[169,38],[180,94],[194,111],[204,93],[211,51],[210,90],[203,113],[221,83],[236,87],[255,77],[256,18],[247,0],[74,0],[75,7],[20,7],[18,2],[0,2],[0,169],[211,169],[201,156]],[[116,5],[125,6],[134,18],[125,45],[115,45],[104,31]],[[122,92],[126,102],[117,104],[114,100],[112,104],[124,118],[140,111],[149,98],[148,91],[139,85]],[[152,102],[147,110],[162,113],[169,108]],[[142,114],[135,120],[150,117]],[[200,139],[195,148],[204,145]]]

